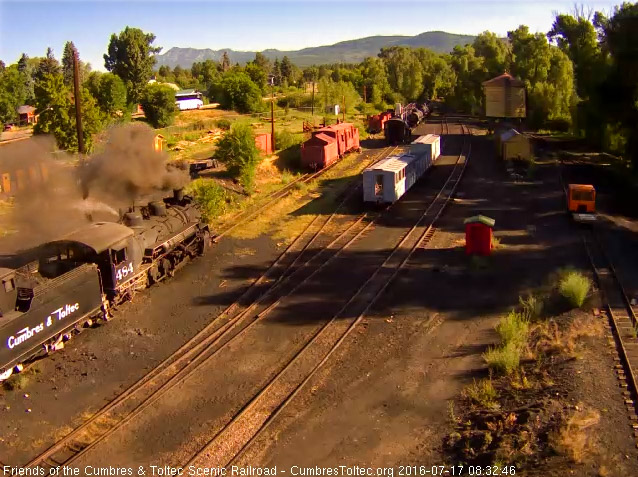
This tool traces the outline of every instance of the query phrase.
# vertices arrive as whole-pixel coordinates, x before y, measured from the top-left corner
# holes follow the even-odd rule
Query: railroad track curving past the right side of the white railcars
[[[462,134],[465,135],[464,128],[461,125]],[[467,135],[471,135],[469,128]],[[443,187],[385,261],[352,298],[312,334],[310,340],[292,359],[184,467],[225,467],[235,464],[330,359],[408,263],[413,252],[431,240],[435,223],[453,197],[468,163],[471,141],[466,142],[469,144],[467,153],[463,155],[464,144]],[[317,356],[321,357],[318,361]]]

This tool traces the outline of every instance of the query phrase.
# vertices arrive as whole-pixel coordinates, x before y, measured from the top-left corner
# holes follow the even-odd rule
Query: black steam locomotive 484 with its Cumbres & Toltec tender
[[[172,276],[211,244],[208,225],[181,190],[136,206],[119,223],[94,222],[0,268],[0,380],[64,346],[74,330],[108,320],[136,291]]]

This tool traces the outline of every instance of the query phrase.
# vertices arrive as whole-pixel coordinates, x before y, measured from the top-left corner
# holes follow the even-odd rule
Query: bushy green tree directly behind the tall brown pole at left
[[[82,133],[86,152],[93,149],[93,135],[102,127],[102,118],[96,101],[86,89],[81,90]],[[62,74],[45,74],[35,88],[36,107],[40,111],[36,134],[53,134],[59,148],[78,150],[75,125],[75,102],[64,84]]]

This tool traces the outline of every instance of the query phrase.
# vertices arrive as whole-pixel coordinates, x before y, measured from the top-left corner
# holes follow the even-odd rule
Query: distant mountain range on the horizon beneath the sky
[[[444,31],[428,31],[416,36],[369,36],[357,40],[348,40],[328,46],[316,46],[302,50],[282,51],[264,50],[262,53],[269,59],[288,56],[297,66],[306,67],[326,63],[358,63],[368,56],[376,56],[386,46],[424,47],[439,53],[450,52],[456,45],[465,45],[474,41],[474,36],[456,35]],[[157,55],[156,67],[167,65],[175,68],[190,68],[196,61],[220,61],[224,52],[228,53],[232,64],[241,65],[255,59],[254,51],[235,51],[228,48],[211,50],[210,48],[173,47],[166,53]]]

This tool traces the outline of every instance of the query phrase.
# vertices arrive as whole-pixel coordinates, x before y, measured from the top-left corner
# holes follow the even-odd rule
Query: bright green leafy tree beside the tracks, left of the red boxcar
[[[214,157],[226,165],[233,177],[239,179],[239,183],[247,193],[253,192],[257,165],[261,156],[250,126],[233,125],[217,143]]]

